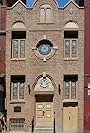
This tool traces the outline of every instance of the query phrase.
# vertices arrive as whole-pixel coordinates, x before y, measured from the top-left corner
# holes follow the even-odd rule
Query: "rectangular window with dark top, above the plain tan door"
[[[64,98],[76,99],[77,98],[77,75],[65,75],[64,76]]]

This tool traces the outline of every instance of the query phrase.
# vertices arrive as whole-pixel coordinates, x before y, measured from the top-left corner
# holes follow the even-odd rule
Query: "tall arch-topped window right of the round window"
[[[64,26],[64,58],[76,59],[78,56],[78,25],[68,22]]]

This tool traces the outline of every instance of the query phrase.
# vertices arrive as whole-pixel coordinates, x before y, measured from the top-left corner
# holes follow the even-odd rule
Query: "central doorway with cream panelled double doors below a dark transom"
[[[53,95],[36,95],[36,127],[53,127]]]

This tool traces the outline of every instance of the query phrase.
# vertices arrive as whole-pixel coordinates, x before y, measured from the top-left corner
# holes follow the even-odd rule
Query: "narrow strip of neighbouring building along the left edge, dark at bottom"
[[[6,7],[0,1],[0,115],[5,113]]]

